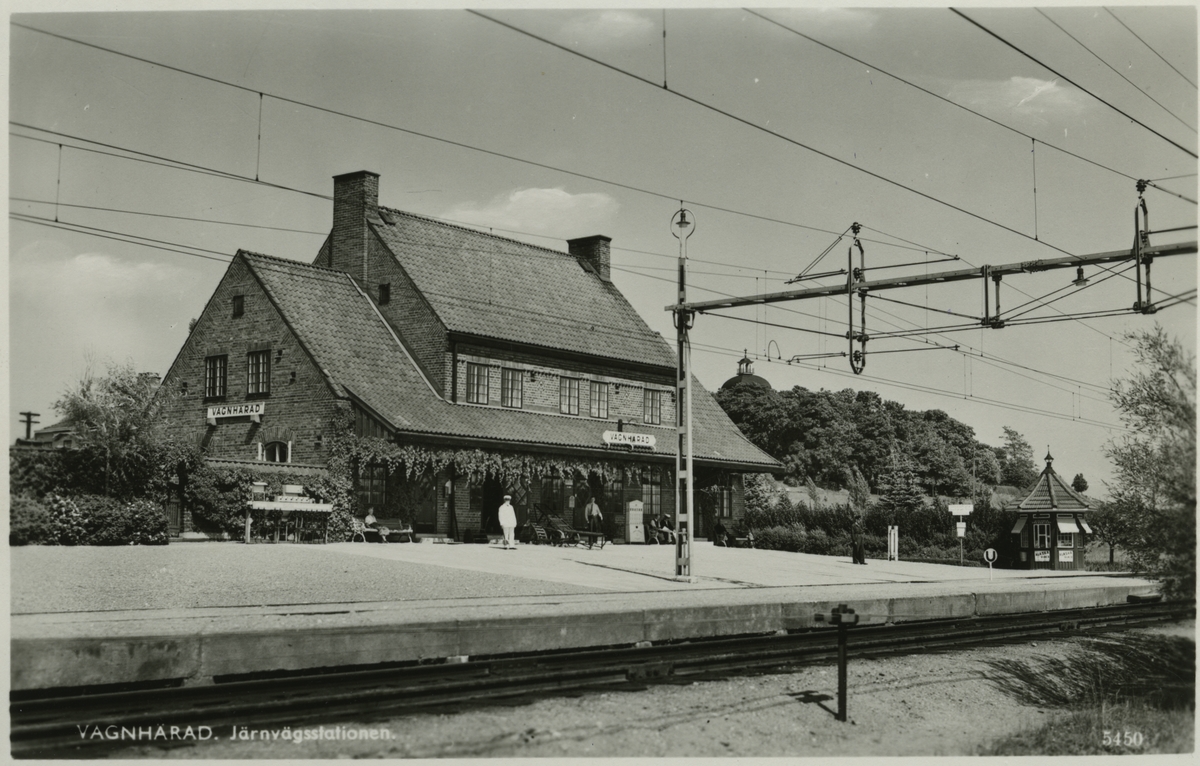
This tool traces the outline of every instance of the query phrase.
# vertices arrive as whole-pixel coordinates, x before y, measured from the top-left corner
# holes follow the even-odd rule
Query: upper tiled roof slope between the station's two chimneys
[[[380,208],[379,238],[451,331],[674,366],[612,283],[565,252]]]

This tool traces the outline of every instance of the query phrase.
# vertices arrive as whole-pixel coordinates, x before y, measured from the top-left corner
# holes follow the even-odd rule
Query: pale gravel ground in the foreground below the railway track
[[[1194,627],[1193,627],[1194,630]],[[386,730],[388,742],[220,741],[116,758],[580,758],[974,755],[1055,711],[1024,705],[988,676],[1001,659],[1063,657],[1069,640],[852,659],[851,720],[834,719],[836,666],[682,681],[638,692],[344,724]],[[251,728],[253,722],[246,722]],[[330,720],[326,726],[341,722]]]

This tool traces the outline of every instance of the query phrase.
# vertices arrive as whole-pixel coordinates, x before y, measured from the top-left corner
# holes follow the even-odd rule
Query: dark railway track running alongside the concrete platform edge
[[[863,626],[848,632],[856,658],[1120,630],[1195,616],[1195,603],[1136,603],[1031,615]],[[128,740],[92,738],[94,726],[208,726],[224,738],[254,729],[332,725],[588,689],[641,688],[836,659],[838,632],[748,635],[636,647],[480,657],[464,663],[329,669],[308,675],[216,678],[210,686],[92,694],[12,693],[13,758],[91,758]],[[853,689],[851,689],[853,693]],[[170,744],[169,742],[157,742]]]

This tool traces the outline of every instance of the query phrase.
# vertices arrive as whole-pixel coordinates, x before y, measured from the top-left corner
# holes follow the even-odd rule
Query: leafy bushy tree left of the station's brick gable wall
[[[175,454],[156,417],[158,378],[132,364],[108,365],[98,377],[91,365],[54,403],[74,426],[78,448],[66,457],[70,489],[130,499],[164,486]]]

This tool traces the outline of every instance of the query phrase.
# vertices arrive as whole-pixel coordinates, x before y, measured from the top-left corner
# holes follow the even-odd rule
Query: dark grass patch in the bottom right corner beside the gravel
[[[1195,642],[1123,634],[1082,641],[1063,659],[992,660],[991,681],[1019,701],[1058,708],[983,755],[1117,755],[1195,749]]]

